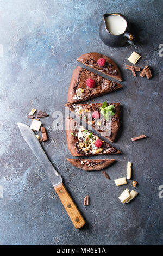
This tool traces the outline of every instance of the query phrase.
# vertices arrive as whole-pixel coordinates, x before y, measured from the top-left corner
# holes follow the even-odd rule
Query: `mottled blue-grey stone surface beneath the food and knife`
[[[161,0],[1,1],[2,245],[162,244],[161,4]],[[135,46],[110,48],[99,39],[102,15],[115,11],[133,23]],[[135,78],[124,68],[125,64],[130,65],[127,58],[133,51],[142,56],[137,66],[151,67],[151,80]],[[107,169],[111,180],[101,172],[84,172],[71,166],[65,160],[71,157],[65,131],[52,129],[53,112],[64,113],[68,84],[73,69],[80,65],[76,59],[87,52],[108,55],[123,74],[123,90],[90,101],[123,105],[123,131],[120,139],[112,143],[122,154],[116,155],[117,163]],[[18,130],[17,121],[30,125],[27,114],[32,108],[50,115],[41,119],[49,136],[49,141],[42,145],[87,221],[81,230],[74,229],[51,182]],[[131,137],[142,133],[148,138],[131,142]],[[132,189],[132,181],[116,187],[114,179],[127,175],[127,161],[133,163],[139,196],[123,205],[118,196],[125,188]],[[83,199],[87,194],[90,205],[85,207]]]

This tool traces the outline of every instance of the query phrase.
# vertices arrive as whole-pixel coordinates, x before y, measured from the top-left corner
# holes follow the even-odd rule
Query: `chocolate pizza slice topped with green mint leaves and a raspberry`
[[[120,129],[120,103],[65,104],[65,106],[109,141],[115,141]]]

